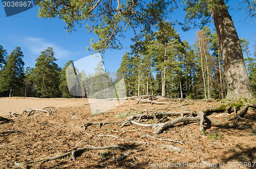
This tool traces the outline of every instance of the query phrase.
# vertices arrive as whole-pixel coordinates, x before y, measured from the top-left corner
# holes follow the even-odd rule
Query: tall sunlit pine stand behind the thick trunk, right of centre
[[[124,76],[127,95],[225,98],[226,71],[217,32],[212,34],[208,27],[203,27],[196,37],[196,43],[189,45],[167,22],[162,23],[153,34],[142,33],[140,40],[134,40],[132,52],[123,56],[118,69]],[[252,90],[256,95],[255,59],[250,57],[249,41],[243,38],[240,42]]]

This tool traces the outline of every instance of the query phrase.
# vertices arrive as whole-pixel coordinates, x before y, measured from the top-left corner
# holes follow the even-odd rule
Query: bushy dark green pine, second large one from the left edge
[[[55,63],[52,47],[41,52],[36,59],[34,68],[37,96],[41,98],[53,98],[59,96],[59,79],[61,69]]]

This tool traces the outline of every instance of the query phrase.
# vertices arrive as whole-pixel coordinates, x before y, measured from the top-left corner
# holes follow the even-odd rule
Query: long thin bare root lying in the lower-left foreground
[[[75,153],[77,153],[77,152],[84,152],[87,150],[105,150],[105,149],[125,149],[125,150],[127,150],[126,148],[120,147],[120,146],[85,147],[85,148],[70,151],[68,153],[65,153],[65,154],[62,154],[59,156],[55,156],[55,157],[49,157],[49,158],[45,158],[45,159],[34,160],[34,161],[29,161],[29,162],[24,162],[24,163],[18,163],[15,161],[14,164],[20,166],[20,165],[27,165],[27,164],[31,164],[31,163],[35,163],[35,162],[40,162],[40,161],[42,161],[42,163],[44,163],[46,161],[56,160],[56,159],[60,159],[60,158],[66,157],[66,156],[71,156],[71,158],[73,160],[75,160]]]

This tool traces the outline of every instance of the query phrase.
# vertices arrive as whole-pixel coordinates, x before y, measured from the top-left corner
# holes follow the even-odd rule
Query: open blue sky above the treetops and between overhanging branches
[[[234,2],[234,1],[229,1]],[[234,4],[231,4],[234,5]],[[253,45],[256,44],[256,21],[251,23],[247,20],[242,21],[246,15],[240,11],[229,10],[237,29],[239,38],[246,37],[250,41],[250,51],[253,54]],[[0,3],[0,44],[10,54],[16,46],[20,46],[24,54],[25,67],[34,67],[35,59],[40,55],[41,51],[47,49],[48,46],[53,47],[55,58],[58,59],[57,64],[63,67],[69,60],[77,61],[83,57],[95,54],[87,51],[90,46],[90,39],[97,38],[93,33],[89,34],[85,28],[77,28],[71,34],[67,33],[65,22],[58,18],[38,18],[38,6],[35,6],[25,12],[6,17],[2,3]],[[173,20],[181,20],[184,18],[184,12],[176,11],[171,14]],[[213,23],[209,28],[214,28]],[[195,42],[197,29],[183,32],[179,26],[175,26],[177,32],[180,33],[181,39],[189,41],[189,44]],[[126,32],[126,38],[120,39],[123,43],[122,50],[106,50],[103,54],[103,61],[106,70],[116,71],[121,63],[121,58],[125,52],[130,52],[130,40],[134,37],[133,31]]]

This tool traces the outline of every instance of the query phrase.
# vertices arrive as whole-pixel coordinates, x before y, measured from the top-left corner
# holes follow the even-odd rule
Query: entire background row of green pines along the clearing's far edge
[[[172,24],[161,23],[153,34],[141,34],[133,39],[130,53],[122,57],[117,79],[124,78],[127,96],[162,95],[183,99],[224,99],[227,93],[226,73],[217,32],[203,27],[193,45],[182,40]],[[249,51],[250,42],[240,39],[244,62],[251,87],[256,96],[256,47]],[[253,53],[253,54],[252,54]],[[109,72],[98,63],[93,75],[79,72],[72,60],[60,68],[54,50],[48,47],[32,67],[24,67],[23,52],[16,47],[11,54],[0,45],[0,95],[39,98],[74,98],[68,89],[66,69],[74,68],[80,87],[79,96],[110,99],[111,91],[102,89],[114,84]],[[162,87],[164,86],[164,87]],[[100,93],[99,93],[100,92]],[[91,93],[94,93],[92,95]]]

